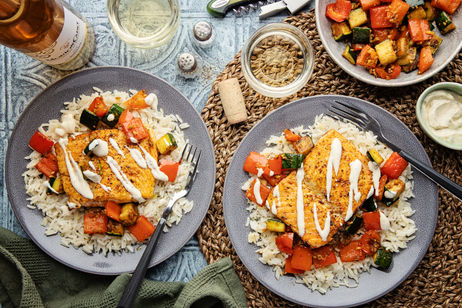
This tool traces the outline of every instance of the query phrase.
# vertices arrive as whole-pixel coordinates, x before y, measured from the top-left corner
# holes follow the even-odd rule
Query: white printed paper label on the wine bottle
[[[82,48],[85,31],[84,21],[64,7],[64,25],[58,39],[47,49],[26,55],[47,64],[67,62]]]

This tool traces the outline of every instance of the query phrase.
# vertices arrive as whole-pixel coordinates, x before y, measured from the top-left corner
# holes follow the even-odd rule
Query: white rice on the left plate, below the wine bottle
[[[74,98],[72,102],[65,102],[64,105],[67,105],[67,107],[61,110],[63,115],[72,114],[74,117],[76,125],[76,133],[73,134],[74,136],[89,132],[87,127],[79,123],[80,114],[85,108],[88,108],[95,97],[101,95],[106,105],[111,106],[112,104],[117,104],[127,109],[126,106],[123,106],[123,103],[130,99],[132,96],[130,93],[136,94],[138,92],[136,90],[130,90],[130,93],[119,92],[117,90],[114,92],[102,92],[96,87],[93,89],[97,92],[91,94],[91,96],[81,95],[77,100]],[[154,130],[157,139],[160,139],[166,133],[173,134],[178,148],[168,156],[160,155],[159,161],[161,159],[167,159],[178,162],[181,152],[189,141],[184,139],[184,134],[180,126],[181,128],[187,128],[189,125],[183,123],[179,117],[175,117],[173,114],[164,115],[162,109],[157,109],[157,104],[156,98],[154,103],[148,108],[142,110],[129,110],[135,117],[140,117],[142,119],[146,128],[152,128]],[[177,121],[181,123],[180,126],[176,123]],[[106,128],[102,124],[100,124],[100,126],[101,127],[98,127],[99,129]],[[38,130],[48,138],[58,142],[60,137],[55,134],[57,128],[61,128],[61,122],[58,119],[42,124]],[[66,136],[64,136],[64,138],[65,137]],[[40,161],[41,154],[33,151],[26,159],[30,160],[27,166],[28,170],[23,174],[26,191],[30,196],[27,199],[30,201],[30,204],[27,206],[31,209],[39,208],[42,210],[42,214],[44,215],[42,226],[45,227],[45,235],[60,233],[61,245],[66,247],[72,245],[76,249],[81,247],[82,250],[87,253],[99,251],[102,251],[104,254],[107,252],[115,252],[117,254],[120,254],[122,251],[134,252],[135,245],[142,244],[138,242],[135,236],[126,228],[123,237],[112,237],[106,234],[84,234],[84,208],[72,209],[69,211],[67,207],[68,197],[65,194],[47,196],[46,187],[42,185],[42,183],[47,180],[47,177],[34,168],[35,164]],[[175,191],[179,191],[186,186],[186,176],[190,168],[190,163],[181,164],[178,168],[177,178],[174,183],[157,180],[154,186],[154,196],[138,206],[140,215],[144,215],[152,224],[157,225],[170,197],[173,196]],[[164,232],[168,231],[167,226],[170,227],[172,224],[178,224],[183,215],[191,211],[193,205],[193,201],[187,200],[186,198],[181,198],[176,202],[166,223],[167,225],[164,227]],[[147,242],[147,240],[143,243],[145,242]]]

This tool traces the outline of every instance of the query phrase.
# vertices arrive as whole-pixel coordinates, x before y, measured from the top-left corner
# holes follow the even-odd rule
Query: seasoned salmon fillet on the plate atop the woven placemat
[[[332,176],[332,188],[330,201],[326,196],[326,173],[327,161],[329,160],[330,147],[332,141],[337,138],[342,143],[342,157],[340,168],[337,175],[335,171]],[[305,234],[301,236],[302,240],[310,245],[311,248],[319,248],[328,244],[337,231],[345,224],[346,211],[349,201],[349,164],[355,160],[361,162],[362,168],[358,181],[358,191],[361,198],[356,202],[353,198],[353,213],[355,213],[364,203],[366,197],[373,186],[372,172],[368,167],[368,159],[351,144],[345,137],[335,130],[327,132],[318,142],[312,151],[306,156],[303,162],[305,176],[302,183],[303,207],[305,213]],[[277,207],[277,217],[289,225],[294,232],[298,232],[297,226],[297,180],[296,171],[292,171],[289,176],[284,178],[279,184],[279,194],[281,206]],[[271,191],[268,196],[268,203],[273,204],[278,200],[273,196]],[[318,222],[321,229],[324,228],[324,222],[327,218],[327,212],[330,215],[330,232],[327,241],[322,241],[318,230],[316,229],[313,208],[316,204]],[[300,234],[299,234],[300,235]]]

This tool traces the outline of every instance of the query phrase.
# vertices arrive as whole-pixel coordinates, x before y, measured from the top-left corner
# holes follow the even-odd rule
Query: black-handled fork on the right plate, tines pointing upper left
[[[380,129],[380,124],[370,116],[369,114],[366,114],[365,112],[362,112],[360,110],[357,110],[356,108],[353,108],[351,106],[347,106],[345,104],[335,102],[343,107],[343,109],[340,109],[334,105],[331,105],[330,107],[334,110],[330,110],[335,116],[344,118],[348,120],[349,122],[353,123],[354,125],[360,127],[363,130],[366,131],[371,131],[374,133],[374,135],[377,136],[377,140],[385,144],[388,148],[390,148],[394,152],[398,152],[398,154],[403,157],[406,161],[409,162],[414,168],[425,174],[429,179],[431,179],[433,182],[447,190],[449,193],[452,195],[456,196],[459,200],[462,200],[462,186],[457,184],[456,182],[448,179],[432,167],[429,167],[413,157],[412,155],[404,152],[402,149],[394,145],[392,142],[387,140],[383,134],[382,130]],[[340,107],[340,106],[339,106]],[[345,110],[346,109],[346,110]],[[342,113],[339,113],[342,112]],[[326,114],[330,117],[334,117],[331,114]],[[334,117],[335,118],[335,117]]]

